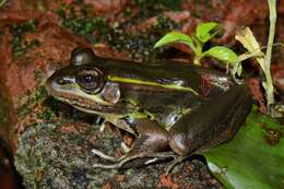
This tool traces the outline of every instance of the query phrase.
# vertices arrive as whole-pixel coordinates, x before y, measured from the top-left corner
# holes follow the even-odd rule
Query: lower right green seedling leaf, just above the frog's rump
[[[214,57],[221,61],[228,63],[238,62],[238,56],[227,47],[224,46],[215,46],[203,52],[204,56]]]

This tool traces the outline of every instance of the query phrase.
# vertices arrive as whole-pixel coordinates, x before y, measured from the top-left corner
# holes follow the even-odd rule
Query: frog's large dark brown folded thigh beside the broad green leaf
[[[170,149],[187,156],[232,139],[249,114],[251,103],[246,85],[232,87],[184,115],[169,130]]]

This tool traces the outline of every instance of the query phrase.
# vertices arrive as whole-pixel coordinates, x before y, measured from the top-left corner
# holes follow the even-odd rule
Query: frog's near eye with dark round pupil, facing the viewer
[[[105,80],[103,73],[97,69],[82,70],[76,76],[79,86],[90,94],[95,94],[102,91]]]

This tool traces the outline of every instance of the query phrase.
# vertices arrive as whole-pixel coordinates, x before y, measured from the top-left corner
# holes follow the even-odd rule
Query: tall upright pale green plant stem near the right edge
[[[274,104],[274,92],[273,92],[273,82],[271,78],[270,64],[271,64],[271,54],[272,54],[272,46],[275,35],[275,24],[276,24],[276,0],[268,0],[269,2],[269,10],[270,10],[270,29],[269,29],[269,42],[268,42],[268,49],[264,59],[264,74],[267,78],[265,82],[265,93],[267,93],[267,107],[271,104]]]

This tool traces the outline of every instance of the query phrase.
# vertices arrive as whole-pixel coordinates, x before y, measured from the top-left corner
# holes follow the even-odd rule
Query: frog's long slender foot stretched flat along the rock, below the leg
[[[142,165],[149,165],[155,162],[165,161],[168,158],[177,158],[177,154],[173,151],[170,152],[142,152],[133,155],[128,155],[121,158],[120,162],[111,164],[94,164],[94,168],[129,168],[138,167]]]

